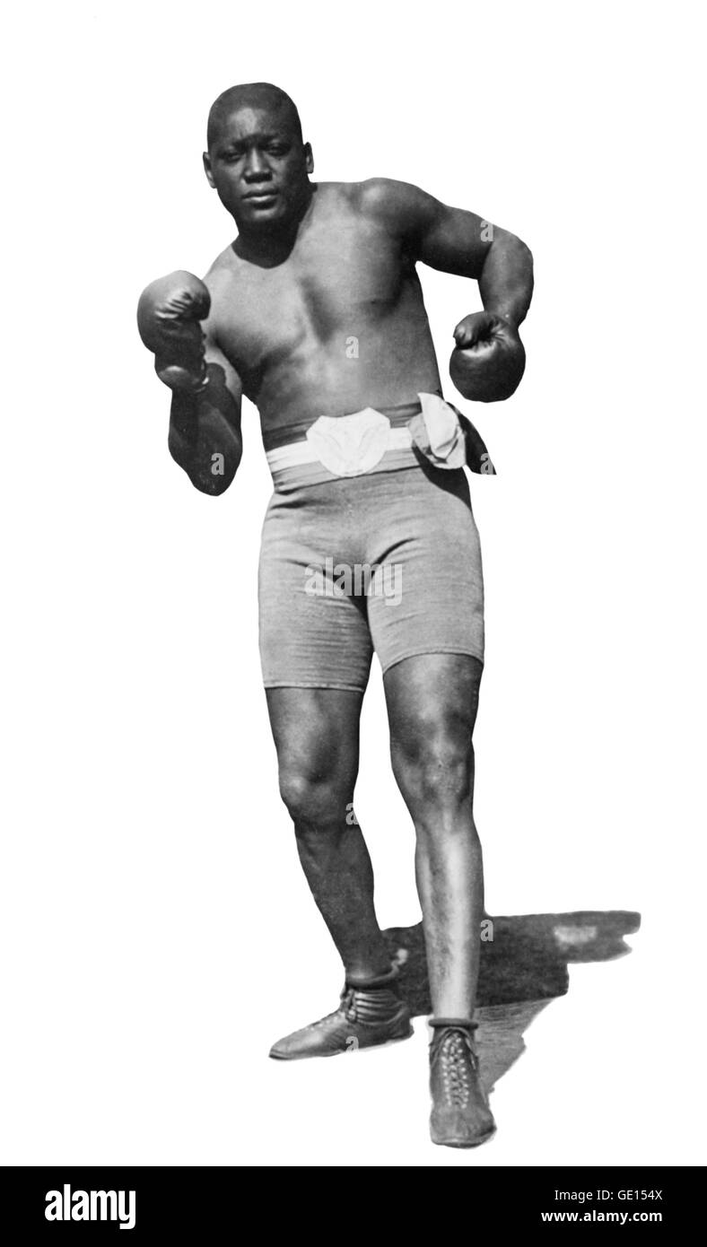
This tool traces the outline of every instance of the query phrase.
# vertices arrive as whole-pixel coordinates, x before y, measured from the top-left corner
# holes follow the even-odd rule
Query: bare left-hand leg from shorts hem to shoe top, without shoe
[[[363,693],[268,688],[282,798],[299,860],[348,978],[389,971],[373,904],[373,868],[353,822]]]

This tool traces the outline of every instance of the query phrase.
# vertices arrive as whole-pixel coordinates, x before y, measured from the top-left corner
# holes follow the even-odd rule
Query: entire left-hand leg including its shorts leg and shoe
[[[370,858],[353,818],[359,716],[373,653],[365,604],[328,592],[322,574],[334,555],[334,564],[359,561],[347,494],[334,481],[273,495],[263,525],[261,658],[281,792],[314,900],[345,966],[339,1008],[278,1040],[271,1056],[279,1060],[332,1056],[411,1034],[375,918]]]

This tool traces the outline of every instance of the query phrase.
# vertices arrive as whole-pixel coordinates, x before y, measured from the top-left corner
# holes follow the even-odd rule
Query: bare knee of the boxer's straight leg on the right
[[[410,742],[394,743],[393,771],[413,816],[428,809],[458,809],[474,788],[471,738],[433,733],[413,747]]]

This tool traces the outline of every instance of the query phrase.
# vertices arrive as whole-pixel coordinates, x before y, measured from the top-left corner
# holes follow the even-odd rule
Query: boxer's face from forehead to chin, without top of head
[[[242,105],[221,122],[203,167],[237,226],[253,229],[297,217],[314,165],[286,110]]]

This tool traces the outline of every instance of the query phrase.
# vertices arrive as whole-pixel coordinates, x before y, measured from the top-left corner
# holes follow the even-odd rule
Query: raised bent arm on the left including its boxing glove
[[[207,323],[209,308],[204,283],[180,271],[142,292],[137,324],[160,380],[172,390],[172,458],[196,489],[222,494],[241,463],[242,387]]]

